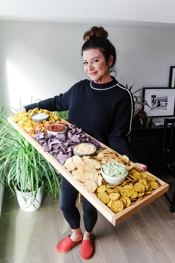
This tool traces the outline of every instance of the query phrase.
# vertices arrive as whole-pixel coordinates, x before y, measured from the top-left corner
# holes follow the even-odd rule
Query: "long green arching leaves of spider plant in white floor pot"
[[[10,108],[3,106],[0,111],[0,182],[13,194],[16,184],[24,200],[31,192],[31,203],[39,187],[40,193],[49,191],[55,199],[59,198],[61,175],[55,173],[55,168],[8,123],[6,113],[13,115]]]

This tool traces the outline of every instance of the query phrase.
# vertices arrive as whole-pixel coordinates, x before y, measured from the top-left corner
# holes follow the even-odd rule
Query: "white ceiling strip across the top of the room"
[[[175,30],[174,0],[1,0],[0,20]]]

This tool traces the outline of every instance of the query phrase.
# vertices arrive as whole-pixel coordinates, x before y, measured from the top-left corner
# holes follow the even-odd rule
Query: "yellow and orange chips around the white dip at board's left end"
[[[31,120],[31,115],[36,114],[36,113],[46,113],[49,115],[49,120],[43,120],[43,123],[41,122],[34,122]],[[50,124],[63,124],[67,125],[66,122],[62,122],[57,116],[56,113],[52,113],[49,110],[42,110],[35,108],[34,110],[29,110],[28,112],[20,112],[17,113],[13,117],[13,121],[19,124],[28,134],[30,134],[32,137],[34,137],[34,134],[37,134],[37,130],[40,130],[44,133],[47,134],[47,127]]]

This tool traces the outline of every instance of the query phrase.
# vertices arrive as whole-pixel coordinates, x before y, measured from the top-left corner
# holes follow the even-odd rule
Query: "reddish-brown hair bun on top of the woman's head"
[[[103,27],[91,27],[90,30],[86,31],[83,36],[84,41],[88,41],[93,37],[108,37],[108,32]]]

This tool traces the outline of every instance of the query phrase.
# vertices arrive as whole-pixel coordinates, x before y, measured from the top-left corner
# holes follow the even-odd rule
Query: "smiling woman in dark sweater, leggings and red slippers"
[[[82,47],[84,70],[90,79],[81,80],[66,93],[25,106],[22,111],[43,108],[51,111],[69,110],[69,122],[76,124],[95,139],[110,146],[132,161],[127,141],[134,113],[132,94],[110,75],[115,65],[115,48],[107,39],[103,27],[85,32]],[[146,165],[138,164],[142,170]],[[82,242],[81,257],[89,259],[93,253],[92,229],[97,222],[96,208],[83,198],[85,231],[80,229],[80,213],[76,208],[78,191],[64,178],[61,181],[60,208],[69,223],[72,235],[57,244],[62,254]]]

